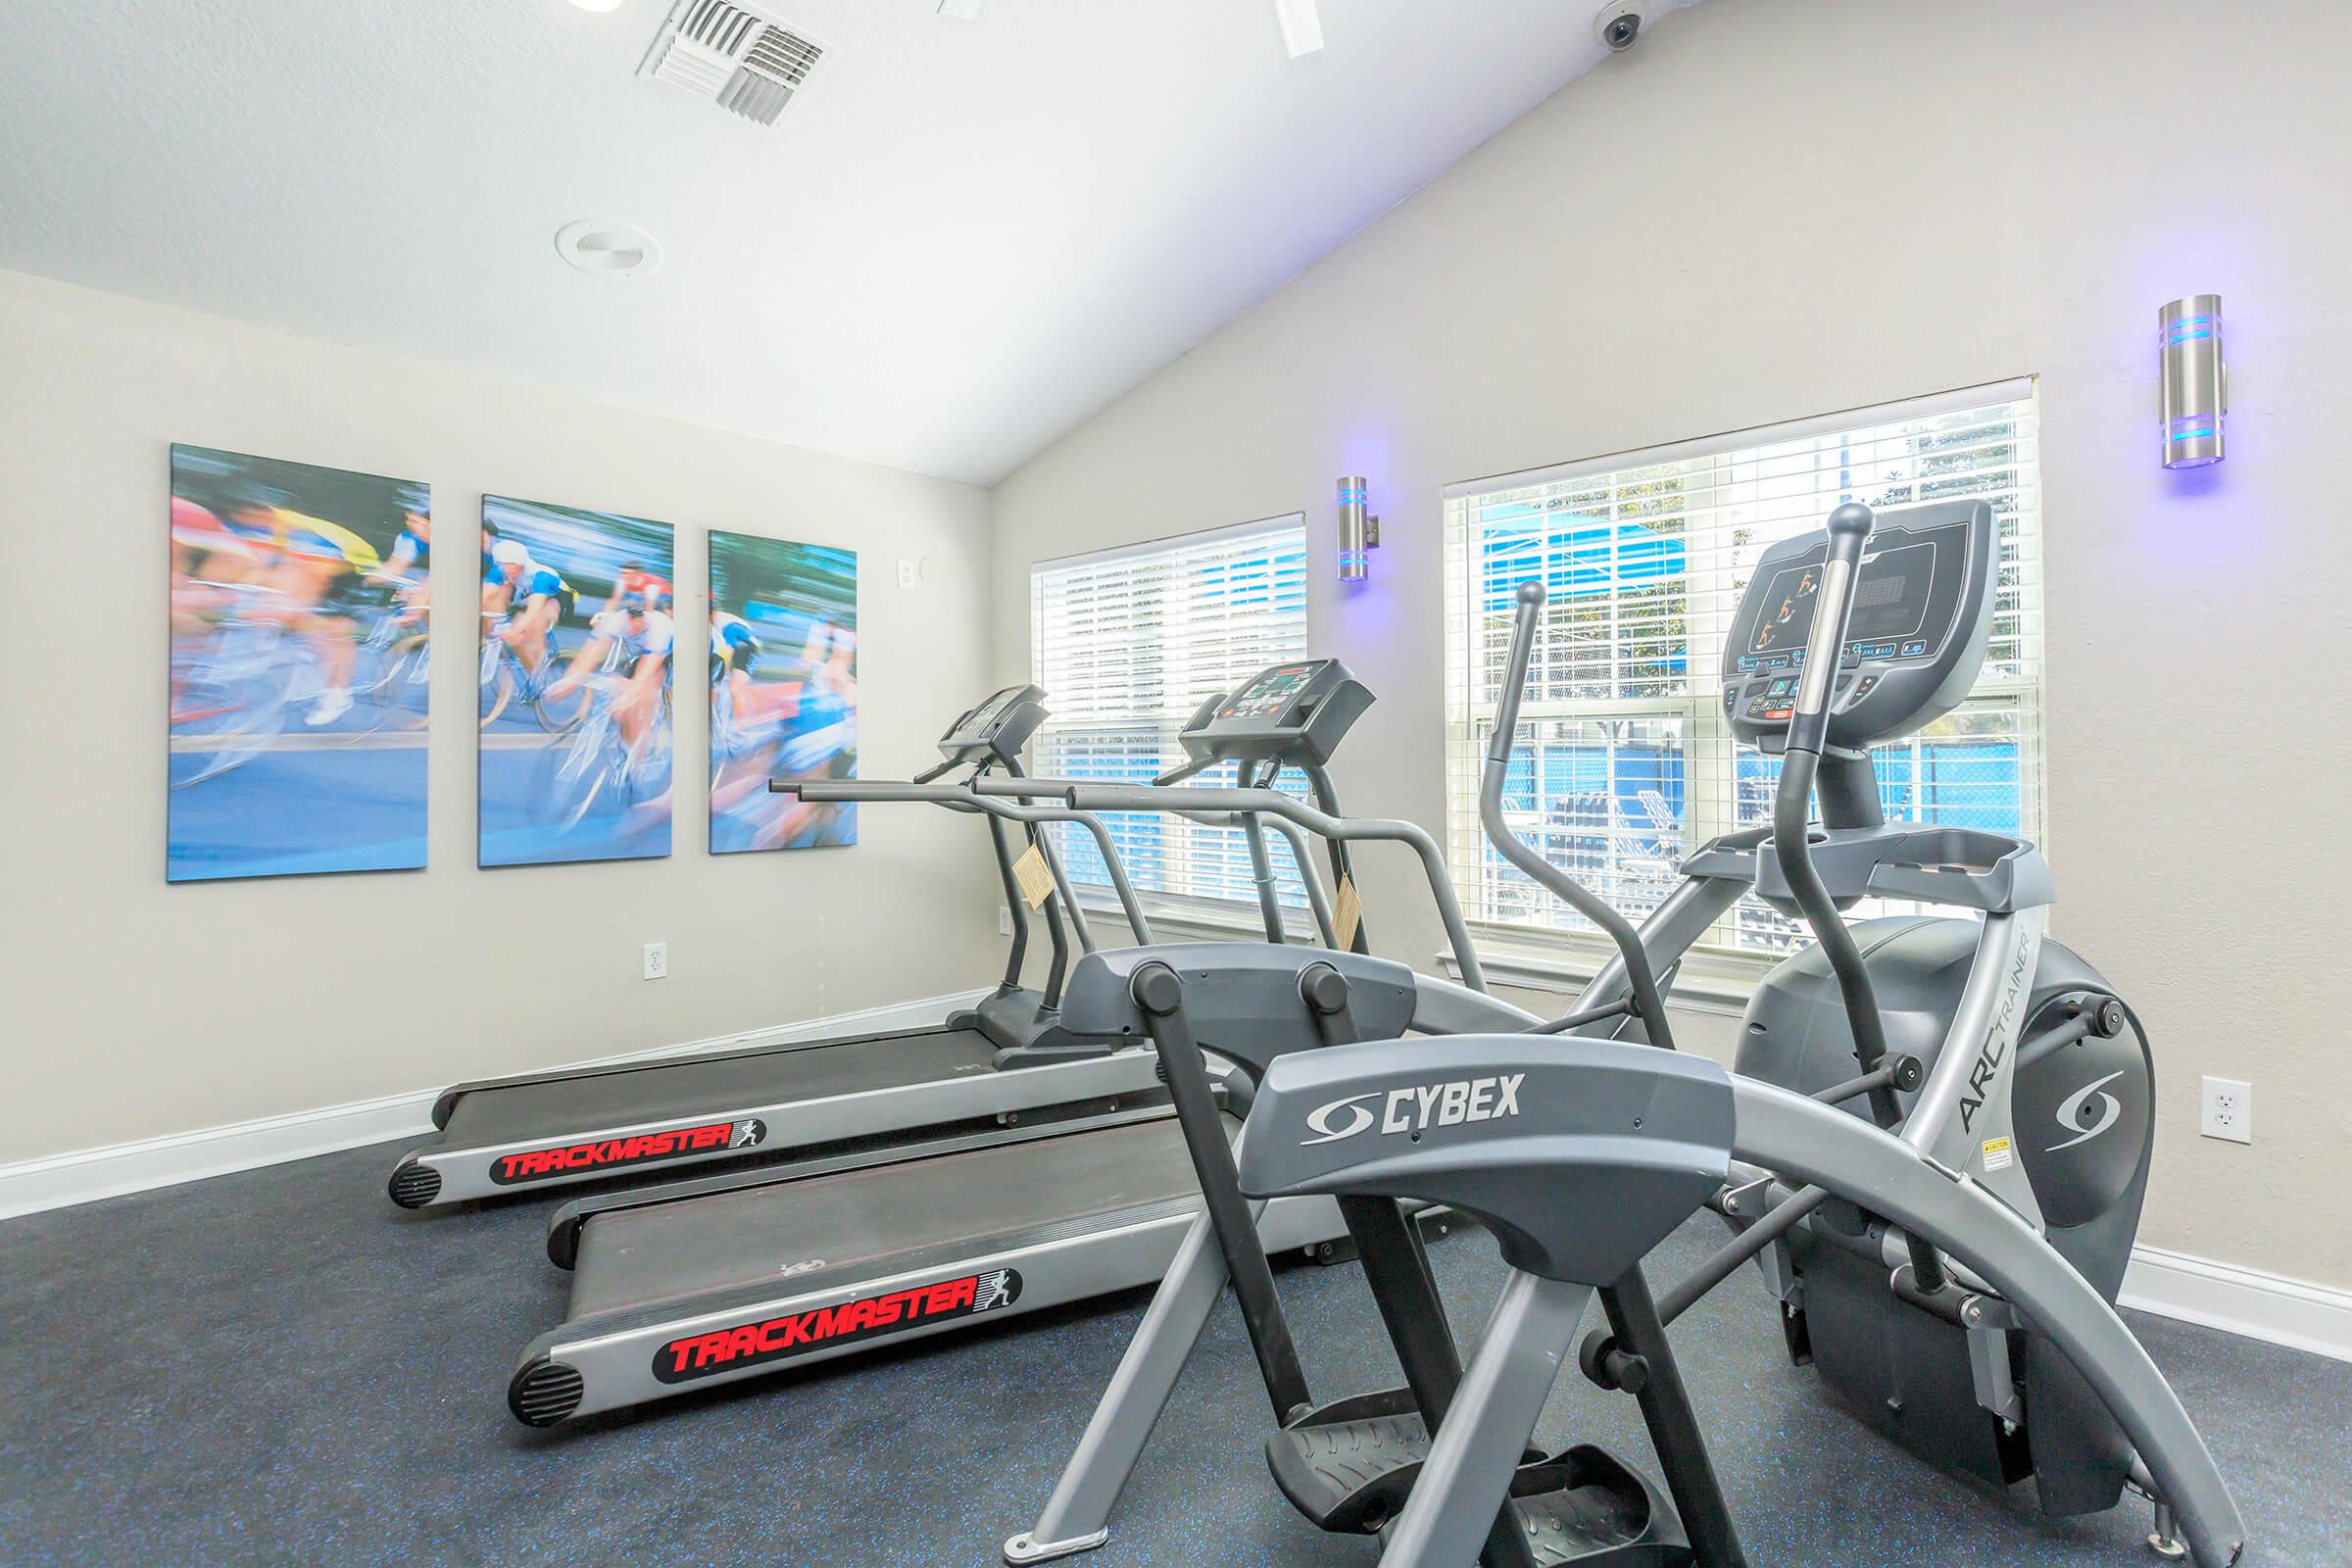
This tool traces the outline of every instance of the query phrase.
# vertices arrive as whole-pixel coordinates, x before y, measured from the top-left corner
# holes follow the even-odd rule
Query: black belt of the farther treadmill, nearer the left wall
[[[626,1072],[477,1088],[459,1095],[442,1140],[494,1145],[567,1138],[640,1121],[727,1114],[746,1105],[901,1088],[995,1072],[995,1044],[978,1030],[915,1030],[844,1044],[656,1060]]]

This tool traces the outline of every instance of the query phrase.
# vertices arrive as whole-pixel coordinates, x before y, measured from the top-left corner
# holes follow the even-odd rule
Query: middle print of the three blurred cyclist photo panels
[[[675,529],[482,496],[480,863],[670,853]]]

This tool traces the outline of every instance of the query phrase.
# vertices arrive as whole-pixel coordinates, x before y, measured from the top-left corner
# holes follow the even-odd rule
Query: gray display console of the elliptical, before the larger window
[[[1757,562],[1731,614],[1724,719],[1733,736],[1766,752],[1788,741],[1825,555],[1818,531],[1780,541]],[[1830,745],[1858,752],[1907,736],[1969,696],[1992,635],[1997,557],[1999,534],[1985,501],[1879,512],[1830,689]]]

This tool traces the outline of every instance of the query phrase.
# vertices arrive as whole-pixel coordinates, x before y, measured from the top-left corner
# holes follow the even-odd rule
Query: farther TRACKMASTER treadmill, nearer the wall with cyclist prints
[[[1044,691],[1007,686],[960,715],[927,785],[955,769],[1018,773],[1018,752],[1047,717]],[[910,785],[837,780],[833,799],[889,799]],[[863,792],[863,795],[861,795]],[[654,1060],[532,1072],[447,1088],[433,1105],[435,1135],[393,1168],[402,1208],[612,1182],[647,1171],[713,1168],[847,1147],[934,1140],[946,1131],[1084,1119],[1160,1095],[1152,1056],[1082,1041],[1061,1025],[1070,961],[1063,919],[1091,950],[1084,917],[1040,820],[1080,813],[971,799],[988,818],[1011,910],[1011,952],[997,990],[971,1011],[920,1030],[783,1041]],[[1044,992],[1021,985],[1030,903],[1014,879],[1007,823],[1054,870],[1061,889],[1044,919],[1054,964]],[[1089,823],[1101,835],[1101,823]],[[1101,835],[1108,844],[1108,835]],[[1122,886],[1122,893],[1127,889]],[[1131,893],[1129,914],[1134,912]]]

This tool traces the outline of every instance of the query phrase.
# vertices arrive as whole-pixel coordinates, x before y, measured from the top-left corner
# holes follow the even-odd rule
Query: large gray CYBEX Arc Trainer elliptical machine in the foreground
[[[1820,966],[1835,976],[1835,1004],[1858,1074],[1835,1056],[1795,1051],[1802,1077],[1835,1079],[1802,1093],[1613,1039],[1557,1041],[1557,1053],[1541,1053],[1524,1034],[1371,1041],[1279,1058],[1263,1074],[1237,1150],[1244,1194],[1388,1194],[1451,1204],[1496,1229],[1512,1265],[1421,1479],[1388,1530],[1383,1568],[1442,1568],[1477,1549],[1496,1502],[1510,1493],[1519,1448],[1592,1291],[1700,1201],[1740,1234],[1658,1298],[1658,1319],[1672,1321],[1757,1258],[1795,1324],[1792,1347],[1809,1347],[1818,1359],[1823,1340],[1837,1335],[1865,1366],[1877,1349],[1886,1356],[1884,1375],[1903,1378],[1903,1399],[1926,1406],[1910,1410],[1912,1420],[1891,1422],[1900,1441],[1940,1458],[1926,1436],[1933,1422],[1994,1420],[2002,1422],[1994,1455],[2030,1465],[2027,1474],[2044,1488],[2044,1509],[2086,1512],[2103,1507],[2098,1497],[2112,1505],[2129,1479],[2157,1500],[2150,1544],[2192,1554],[2201,1568],[2230,1568],[2244,1554],[2244,1521],[2204,1441],[2114,1314],[2112,1286],[2091,1276],[2100,1262],[2122,1272],[2119,1258],[2105,1258],[2100,1246],[2117,1246],[2114,1232],[2122,1232],[2129,1248],[2147,1171],[2145,1124],[2122,1161],[2129,1166],[2122,1182],[2112,1180],[2112,1166],[2103,1185],[2084,1180],[2077,1166],[2025,1159],[2037,1140],[2056,1140],[2058,1147],[2042,1152],[2063,1154],[2122,1126],[2124,1095],[2145,1093],[2147,1072],[2133,1025],[2140,1079],[2126,1081],[2126,1048],[2112,1041],[2124,1039],[2129,1016],[2086,969],[2060,966],[2065,980],[2082,980],[2084,994],[2060,1004],[2060,1023],[2018,1044],[2027,999],[2037,992],[2037,950],[2049,952],[2042,943],[2049,867],[2030,844],[1997,835],[1889,830],[1884,823],[1816,832],[1806,820],[1816,783],[1825,816],[1832,799],[1849,818],[1863,816],[1865,799],[1875,806],[1867,738],[1905,733],[1905,717],[1922,724],[1917,715],[1936,703],[1947,710],[1983,658],[1990,508],[1903,512],[1889,520],[1875,552],[1865,550],[1872,527],[1870,508],[1842,505],[1825,541],[1790,541],[1766,555],[1731,646],[1736,654],[1752,649],[1740,658],[1759,658],[1759,649],[1771,646],[1755,642],[1762,635],[1757,607],[1766,604],[1785,632],[1776,639],[1785,654],[1773,654],[1776,663],[1762,670],[1745,663],[1731,675],[1726,668],[1724,708],[1755,722],[1757,738],[1764,738],[1762,726],[1785,726],[1771,736],[1783,752],[1773,825],[1717,839],[1693,856],[1691,882],[1644,922],[1639,943],[1625,945],[1621,926],[1602,922],[1621,940],[1623,961],[1602,973],[1571,1013],[1571,1020],[1592,1013],[1573,1025],[1576,1032],[1639,1039],[1646,1020],[1611,997],[1646,992],[1653,959],[1665,959],[1670,976],[1696,933],[1738,898],[1745,863],[1750,884],[1776,905],[1799,910],[1820,938]],[[1969,581],[1980,585],[1978,599],[1959,592]],[[1973,616],[1964,614],[1971,602]],[[1889,635],[1865,618],[1849,632],[1856,604],[1879,623],[1900,616],[1910,630],[1893,632],[1891,642],[1849,642],[1853,632]],[[1503,712],[1486,752],[1482,820],[1505,858],[1588,910],[1597,900],[1519,844],[1498,802],[1541,607],[1538,583],[1519,590]],[[1851,654],[1851,663],[1842,654]],[[1884,696],[1872,705],[1877,693]],[[1839,729],[1839,715],[1856,717]],[[1835,769],[1825,771],[1825,762]],[[1882,940],[1865,952],[1839,922],[1839,907],[1865,891],[1983,912],[1973,961],[1945,1016],[1950,1027],[1936,1039],[1924,1025],[1924,1044],[1933,1048],[1926,1060],[1889,1051],[1879,1018],[1879,997],[1905,990],[1907,961],[1872,973],[1879,954],[1917,947]],[[1785,1023],[1790,1004],[1778,997],[1806,994],[1795,983],[1804,978],[1802,959],[1792,964],[1795,978],[1783,976],[1773,997],[1759,997],[1764,1018],[1752,1013],[1750,1023],[1766,1027],[1750,1039],[1769,1039],[1773,1018],[1783,1018],[1780,1039],[1835,1037],[1835,1027],[1818,1020],[1811,1030]],[[1945,969],[1926,964],[1926,978],[1905,994],[1938,994],[1936,976]],[[1818,987],[1811,990],[1818,997]],[[2018,1081],[2032,1065],[2070,1051],[2091,1056],[2098,1077],[2065,1095],[2067,1117],[2056,1131],[2020,1124],[2016,1112],[2027,1098]],[[2110,1065],[2114,1060],[2126,1065]],[[1515,1077],[1522,1086],[1515,1114],[1461,1126],[1390,1128],[1383,1121],[1378,1135],[1348,1140],[1322,1135],[1336,1107],[1395,1105],[1418,1098],[1432,1079],[1463,1081],[1465,1074]],[[2110,1098],[2100,1100],[2103,1093]],[[1842,1110],[1858,1100],[1867,1114]],[[1374,1133],[1369,1121],[1352,1131]],[[1406,1131],[1409,1143],[1392,1135]],[[2053,1175],[2065,1171],[2077,1171],[2077,1185]],[[1858,1281],[1839,1281],[1835,1260],[1851,1255],[1870,1267]],[[1924,1366],[1893,1363],[1907,1354]],[[1583,1340],[1578,1363],[1604,1387],[1623,1387],[1630,1366],[1625,1347],[1606,1331]],[[1950,1387],[1955,1363],[1966,1368],[1957,1394]],[[1893,1418],[1905,1413],[1891,1410]],[[2006,1467],[1999,1474],[2006,1476]]]

